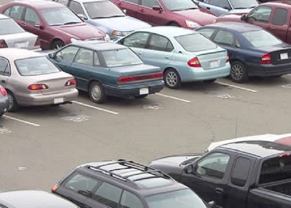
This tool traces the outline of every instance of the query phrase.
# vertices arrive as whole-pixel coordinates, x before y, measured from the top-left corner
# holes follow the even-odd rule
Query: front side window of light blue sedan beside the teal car
[[[149,33],[147,32],[134,32],[125,39],[121,44],[128,47],[145,48]]]

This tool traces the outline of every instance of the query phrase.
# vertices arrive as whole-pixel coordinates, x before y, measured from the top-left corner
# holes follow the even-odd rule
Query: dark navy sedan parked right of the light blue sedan
[[[233,82],[291,73],[291,45],[258,26],[219,22],[196,30],[227,49]]]

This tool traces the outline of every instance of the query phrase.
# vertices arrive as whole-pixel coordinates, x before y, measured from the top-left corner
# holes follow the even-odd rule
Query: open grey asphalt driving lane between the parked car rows
[[[291,76],[163,89],[146,99],[21,108],[0,119],[0,191],[49,191],[81,163],[118,158],[141,163],[203,152],[211,141],[290,133]]]

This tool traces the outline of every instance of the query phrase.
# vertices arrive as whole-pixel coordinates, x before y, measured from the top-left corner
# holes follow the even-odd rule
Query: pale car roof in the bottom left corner
[[[3,192],[0,201],[15,208],[78,208],[57,195],[34,190]]]

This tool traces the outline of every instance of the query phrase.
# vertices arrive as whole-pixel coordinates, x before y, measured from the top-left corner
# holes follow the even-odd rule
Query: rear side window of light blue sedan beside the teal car
[[[170,52],[174,47],[166,37],[152,34],[148,44],[148,49]]]

